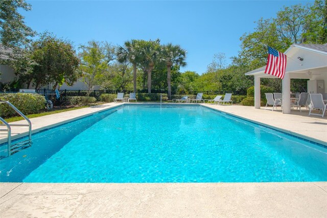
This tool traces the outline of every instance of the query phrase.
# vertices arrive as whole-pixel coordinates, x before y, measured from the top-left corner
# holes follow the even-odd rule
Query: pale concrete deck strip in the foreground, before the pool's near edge
[[[325,217],[327,183],[3,183],[1,217]]]

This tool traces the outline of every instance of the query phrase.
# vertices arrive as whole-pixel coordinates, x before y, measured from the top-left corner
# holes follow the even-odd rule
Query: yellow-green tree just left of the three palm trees
[[[87,84],[88,95],[95,85],[99,85],[104,73],[108,71],[110,61],[115,59],[115,48],[108,42],[89,41],[80,46],[80,70]]]

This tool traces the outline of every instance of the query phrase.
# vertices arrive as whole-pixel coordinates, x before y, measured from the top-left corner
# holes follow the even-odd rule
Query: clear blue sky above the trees
[[[283,6],[313,1],[28,1],[28,26],[69,39],[77,48],[89,40],[123,45],[130,39],[156,39],[188,51],[181,71],[205,72],[216,53],[237,56],[240,37],[254,21],[276,15]]]

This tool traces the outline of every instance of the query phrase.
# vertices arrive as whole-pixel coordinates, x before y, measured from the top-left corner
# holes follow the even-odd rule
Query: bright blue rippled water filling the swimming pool
[[[1,182],[327,181],[326,148],[203,106],[125,105],[32,140]]]

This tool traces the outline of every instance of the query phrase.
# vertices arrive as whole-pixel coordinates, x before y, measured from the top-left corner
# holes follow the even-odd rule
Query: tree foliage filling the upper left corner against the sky
[[[0,0],[0,41],[5,47],[19,48],[26,45],[35,32],[25,25],[19,9],[30,11],[31,5],[24,0]]]

